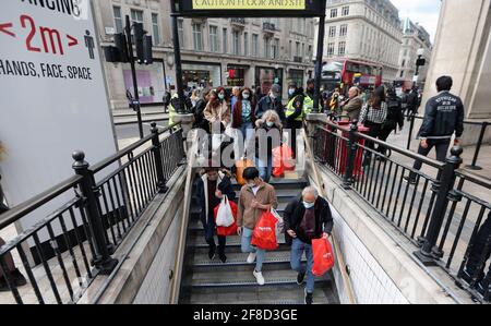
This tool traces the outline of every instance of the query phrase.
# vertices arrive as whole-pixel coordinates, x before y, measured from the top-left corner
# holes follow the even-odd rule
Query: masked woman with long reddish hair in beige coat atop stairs
[[[220,133],[225,131],[230,123],[231,113],[228,107],[227,93],[224,87],[218,87],[216,92],[209,94],[209,101],[203,113],[206,121],[212,124],[212,131],[215,129],[219,129]]]

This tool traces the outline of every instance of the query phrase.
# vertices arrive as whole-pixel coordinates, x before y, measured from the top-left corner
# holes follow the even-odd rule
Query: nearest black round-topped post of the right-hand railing
[[[416,253],[416,256],[427,266],[434,265],[435,259],[443,257],[443,252],[436,246],[436,241],[439,240],[440,231],[445,220],[446,208],[448,206],[448,193],[455,184],[455,170],[459,168],[463,161],[460,158],[462,153],[462,147],[453,147],[452,156],[446,159],[438,184],[436,202],[433,206],[430,226],[428,227],[427,236],[421,239],[423,243],[422,247]]]

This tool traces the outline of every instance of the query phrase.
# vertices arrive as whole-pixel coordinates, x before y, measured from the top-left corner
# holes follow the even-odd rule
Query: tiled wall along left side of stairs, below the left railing
[[[181,210],[177,216],[181,215]],[[170,270],[175,269],[178,227],[181,218],[175,218],[160,244],[157,255],[134,299],[134,304],[168,304]]]

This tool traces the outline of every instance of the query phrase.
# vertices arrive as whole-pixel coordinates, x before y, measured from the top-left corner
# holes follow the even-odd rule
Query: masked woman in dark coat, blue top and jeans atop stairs
[[[246,144],[249,144],[249,140],[253,136],[254,110],[252,92],[246,87],[239,93],[236,106],[232,109],[232,128],[241,131]]]

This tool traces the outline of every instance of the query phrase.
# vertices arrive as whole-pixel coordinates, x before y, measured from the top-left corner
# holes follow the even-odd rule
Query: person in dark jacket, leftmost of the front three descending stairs
[[[221,202],[224,196],[235,201],[236,193],[230,182],[230,172],[220,170],[215,167],[214,162],[208,164],[203,177],[196,180],[194,184],[196,202],[201,204],[200,219],[205,230],[205,240],[209,245],[208,257],[215,258],[217,246],[215,244],[215,213],[214,209]],[[227,256],[225,255],[226,237],[218,236],[218,257],[225,264]]]

